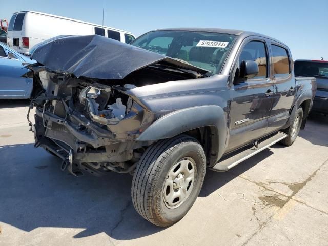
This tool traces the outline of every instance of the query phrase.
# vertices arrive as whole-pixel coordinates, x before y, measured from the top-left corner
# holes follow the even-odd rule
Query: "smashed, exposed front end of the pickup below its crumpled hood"
[[[59,156],[61,168],[76,175],[81,166],[92,174],[133,170],[142,146],[151,144],[136,138],[154,119],[125,93],[135,85],[111,87],[48,71],[38,77],[44,91],[32,101],[36,147]]]

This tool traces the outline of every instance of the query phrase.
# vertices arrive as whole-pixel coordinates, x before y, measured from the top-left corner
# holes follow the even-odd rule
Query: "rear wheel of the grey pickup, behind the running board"
[[[293,117],[292,124],[283,131],[287,134],[287,137],[280,141],[282,145],[291,146],[295,142],[298,133],[301,129],[302,120],[303,120],[303,109],[298,108]]]

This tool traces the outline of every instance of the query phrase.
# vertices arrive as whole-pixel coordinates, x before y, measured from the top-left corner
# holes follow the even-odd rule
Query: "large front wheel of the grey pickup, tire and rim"
[[[194,204],[206,172],[199,142],[180,135],[160,140],[142,155],[132,180],[136,211],[156,226],[179,221]]]

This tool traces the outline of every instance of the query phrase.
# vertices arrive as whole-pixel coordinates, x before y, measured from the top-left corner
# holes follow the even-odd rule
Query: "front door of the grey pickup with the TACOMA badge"
[[[227,152],[261,138],[268,128],[271,110],[272,80],[269,70],[269,50],[265,40],[245,39],[238,51],[231,77],[230,136]],[[256,77],[239,79],[242,60],[253,60],[259,66]],[[269,94],[268,94],[269,93]]]

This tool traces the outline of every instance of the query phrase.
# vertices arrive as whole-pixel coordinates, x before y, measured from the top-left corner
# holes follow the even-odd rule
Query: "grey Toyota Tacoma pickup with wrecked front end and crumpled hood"
[[[134,207],[157,226],[185,216],[207,168],[292,145],[316,91],[286,45],[238,30],[59,36],[31,54],[35,147],[75,176],[132,174]]]

